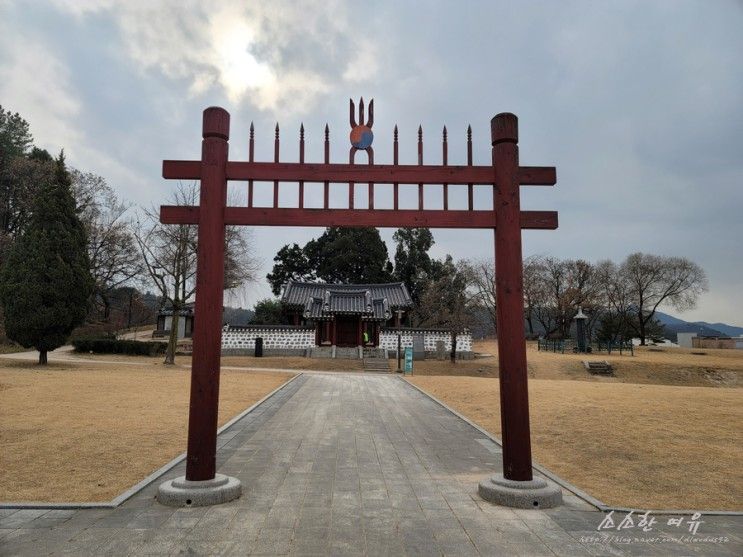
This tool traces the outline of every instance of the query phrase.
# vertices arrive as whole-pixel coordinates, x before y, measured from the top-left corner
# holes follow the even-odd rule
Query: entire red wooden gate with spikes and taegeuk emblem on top
[[[519,166],[518,122],[516,116],[502,113],[490,122],[492,165],[472,164],[471,131],[467,134],[467,164],[453,166],[448,161],[448,140],[444,128],[442,164],[423,164],[423,135],[418,129],[418,164],[398,164],[397,127],[394,130],[393,164],[374,164],[371,148],[374,101],[369,118],[364,118],[363,99],[359,103],[359,121],[351,102],[352,147],[349,164],[330,163],[328,127],[325,127],[323,163],[304,161],[304,128],[300,129],[299,162],[279,162],[279,128],[276,126],[274,162],[253,160],[254,133],[250,128],[247,162],[228,158],[230,115],[222,108],[204,111],[200,161],[163,161],[163,177],[200,180],[198,207],[163,206],[160,220],[165,224],[197,224],[198,253],[196,271],[196,307],[191,370],[191,402],[188,422],[187,480],[214,478],[216,467],[217,405],[222,334],[225,225],[252,226],[355,226],[393,228],[491,228],[495,231],[496,302],[498,358],[500,365],[501,431],[503,475],[509,480],[532,479],[529,403],[524,340],[521,229],[555,229],[557,213],[521,211],[520,186],[554,185],[554,167]],[[365,150],[369,164],[356,165],[354,158]],[[247,207],[228,207],[227,181],[248,182]],[[273,206],[255,207],[255,181],[273,182]],[[279,183],[298,182],[296,208],[280,208]],[[324,184],[323,208],[304,206],[304,184]],[[354,208],[354,184],[368,183],[367,209]],[[329,207],[329,184],[348,184],[348,209]],[[374,185],[393,185],[393,209],[374,207]],[[399,184],[418,185],[418,208],[400,209]],[[443,209],[424,207],[426,184],[443,184]],[[468,208],[450,210],[448,186],[466,184]],[[474,208],[473,186],[493,187],[493,210]]]

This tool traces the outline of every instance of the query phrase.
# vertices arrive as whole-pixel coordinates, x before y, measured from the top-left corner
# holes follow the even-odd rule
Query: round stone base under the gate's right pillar
[[[514,481],[496,474],[480,482],[478,493],[486,501],[517,509],[549,509],[562,505],[560,486],[542,478]]]

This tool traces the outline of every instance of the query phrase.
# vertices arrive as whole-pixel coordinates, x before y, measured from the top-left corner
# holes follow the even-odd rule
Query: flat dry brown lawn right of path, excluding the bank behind
[[[496,379],[413,377],[500,435]],[[529,382],[534,458],[604,503],[743,510],[743,390]]]

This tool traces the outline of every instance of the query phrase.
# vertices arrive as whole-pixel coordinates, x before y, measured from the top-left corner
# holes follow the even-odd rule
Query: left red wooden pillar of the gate
[[[196,306],[191,401],[188,412],[186,479],[214,478],[217,454],[219,364],[222,349],[224,285],[224,208],[227,202],[227,141],[230,115],[217,107],[204,111],[201,192],[196,262]]]

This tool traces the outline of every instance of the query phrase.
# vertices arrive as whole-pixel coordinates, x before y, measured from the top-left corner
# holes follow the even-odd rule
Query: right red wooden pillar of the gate
[[[503,476],[532,479],[529,394],[524,339],[523,266],[519,200],[518,119],[510,113],[490,121],[495,171],[495,288],[500,372]]]

